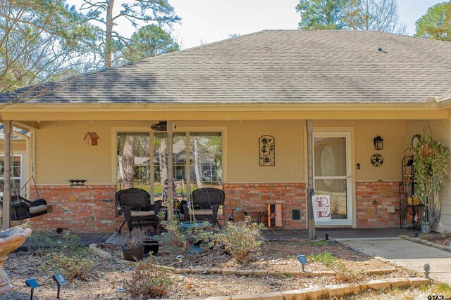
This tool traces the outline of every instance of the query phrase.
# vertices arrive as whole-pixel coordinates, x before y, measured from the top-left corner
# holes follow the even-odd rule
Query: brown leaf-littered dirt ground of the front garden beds
[[[117,249],[110,252],[118,255]],[[349,270],[362,272],[375,268],[389,268],[389,266],[366,256],[354,252],[352,249],[338,244],[325,244],[312,246],[308,241],[295,242],[271,242],[264,245],[258,261],[242,266],[229,256],[218,256],[206,252],[203,254],[180,253],[180,250],[171,249],[167,245],[161,245],[156,259],[159,264],[175,266],[178,268],[240,268],[240,269],[266,269],[266,270],[300,270],[301,266],[296,259],[297,254],[320,254],[329,252],[338,257]],[[175,261],[178,254],[185,255],[182,265]],[[89,273],[88,280],[73,280],[61,287],[61,299],[116,299],[114,293],[116,287],[123,285],[123,280],[130,276],[133,267],[115,260],[104,260],[96,257],[96,265]],[[312,259],[311,259],[312,260]],[[37,278],[41,287],[35,290],[35,299],[55,299],[56,285],[51,280],[51,274],[45,273],[39,265],[44,261],[44,256],[32,256],[27,252],[10,254],[5,263],[6,273],[16,288],[16,292],[4,294],[0,297],[6,299],[29,299],[30,289],[25,287],[25,279]],[[309,263],[307,270],[330,270],[321,262]],[[380,278],[404,277],[407,273],[397,270],[388,275],[366,275],[357,278],[357,281],[366,281]],[[289,289],[301,289],[304,287],[326,286],[345,282],[346,277],[323,276],[319,278],[303,277],[264,277],[252,276],[224,276],[202,274],[173,274],[175,284],[170,287],[167,298],[193,299],[207,296],[223,296],[228,294],[248,294],[264,292],[280,292]],[[130,298],[127,298],[130,299]]]

